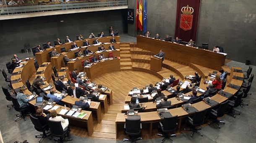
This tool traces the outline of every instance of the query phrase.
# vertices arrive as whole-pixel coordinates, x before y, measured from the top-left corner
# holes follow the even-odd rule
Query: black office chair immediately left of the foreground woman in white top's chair
[[[35,135],[35,138],[37,138],[37,136],[42,136],[42,137],[38,140],[39,143],[40,143],[40,141],[42,140],[42,138],[45,138],[45,137],[50,138],[50,136],[47,135],[47,130],[49,130],[49,126],[48,126],[48,125],[42,126],[42,125],[40,124],[40,122],[39,122],[39,119],[38,119],[37,117],[33,117],[32,115],[30,115],[30,120],[31,120],[31,122],[32,122],[33,125],[34,125],[34,128],[35,128],[37,131],[43,133],[43,134],[36,134],[36,135]],[[50,138],[50,139],[52,139],[52,138]]]

